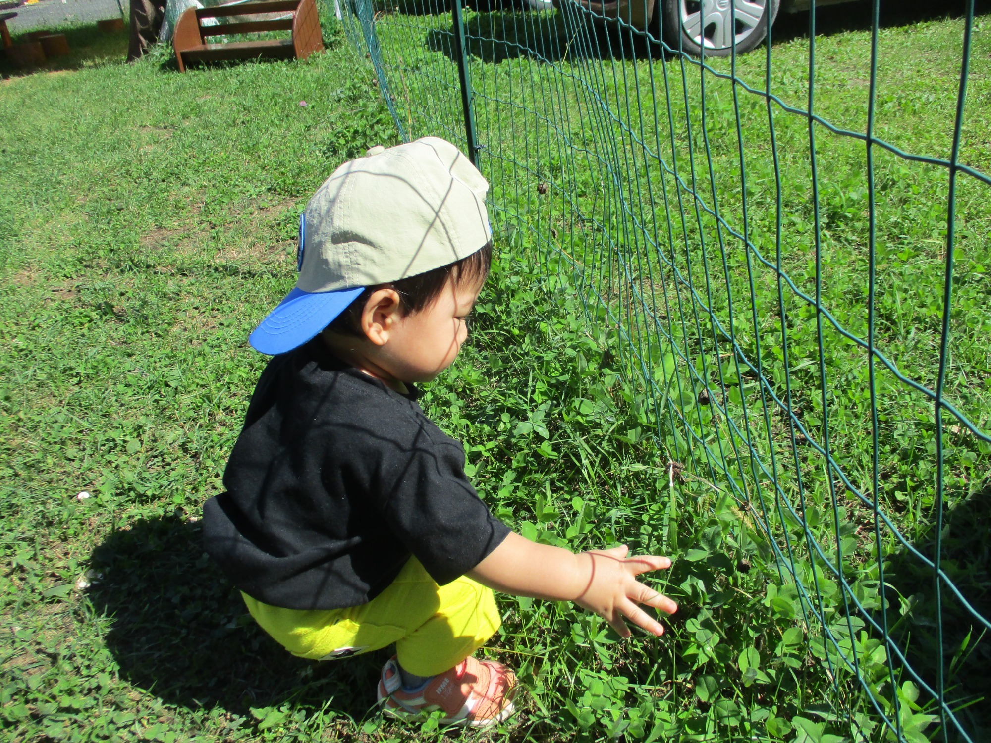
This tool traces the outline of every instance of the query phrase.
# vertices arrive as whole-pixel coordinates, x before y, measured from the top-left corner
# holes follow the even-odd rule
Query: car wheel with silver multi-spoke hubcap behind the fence
[[[780,0],[662,0],[668,46],[694,56],[749,52],[764,41]]]

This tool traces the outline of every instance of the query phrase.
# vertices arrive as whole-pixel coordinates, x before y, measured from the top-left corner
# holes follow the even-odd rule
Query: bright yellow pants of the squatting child
[[[466,577],[438,585],[416,558],[361,606],[283,609],[241,595],[255,621],[293,655],[328,660],[395,643],[399,665],[417,676],[457,666],[502,623],[492,588]]]

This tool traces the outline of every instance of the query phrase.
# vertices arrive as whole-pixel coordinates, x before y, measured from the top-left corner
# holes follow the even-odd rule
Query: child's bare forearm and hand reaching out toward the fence
[[[630,632],[625,616],[654,635],[664,633],[661,623],[637,603],[673,614],[678,604],[635,576],[671,567],[665,557],[627,558],[626,546],[576,555],[560,547],[537,544],[515,533],[509,536],[468,576],[503,593],[555,601],[575,601],[595,611],[622,637]]]

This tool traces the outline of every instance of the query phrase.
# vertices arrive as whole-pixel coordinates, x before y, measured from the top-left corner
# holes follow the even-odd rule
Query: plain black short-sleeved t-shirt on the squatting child
[[[357,606],[410,555],[438,584],[509,530],[465,477],[465,452],[406,396],[335,358],[319,337],[259,379],[203,507],[206,551],[249,595],[290,609]]]

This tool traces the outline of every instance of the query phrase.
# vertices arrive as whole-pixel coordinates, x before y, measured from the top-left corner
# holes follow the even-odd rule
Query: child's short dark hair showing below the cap
[[[375,291],[385,286],[395,289],[399,294],[399,312],[405,317],[428,307],[437,299],[452,275],[458,285],[464,281],[485,279],[489,275],[492,262],[493,244],[492,241],[489,241],[481,250],[460,261],[455,261],[453,264],[442,265],[439,268],[428,270],[426,273],[400,278],[398,281],[366,286],[365,290],[355,297],[354,301],[340,315],[334,318],[326,330],[342,336],[362,338],[365,335],[361,325],[362,313],[365,311],[365,304],[369,297]]]

